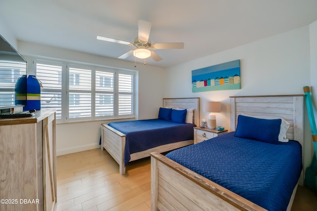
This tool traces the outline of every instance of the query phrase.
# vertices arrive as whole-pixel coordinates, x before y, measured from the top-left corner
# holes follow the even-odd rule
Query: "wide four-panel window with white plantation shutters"
[[[135,73],[34,60],[42,81],[41,107],[57,109],[58,122],[134,117]]]

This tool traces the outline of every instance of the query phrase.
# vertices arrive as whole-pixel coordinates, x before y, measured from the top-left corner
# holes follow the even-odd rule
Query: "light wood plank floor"
[[[57,157],[57,211],[150,211],[150,158],[130,162],[126,174],[104,150]],[[317,196],[299,186],[292,211],[317,211]]]

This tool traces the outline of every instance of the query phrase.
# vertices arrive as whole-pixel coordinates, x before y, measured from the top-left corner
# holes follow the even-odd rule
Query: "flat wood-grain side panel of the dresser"
[[[0,126],[0,199],[37,199],[35,130],[36,124]],[[0,204],[3,211],[24,209],[37,205]]]

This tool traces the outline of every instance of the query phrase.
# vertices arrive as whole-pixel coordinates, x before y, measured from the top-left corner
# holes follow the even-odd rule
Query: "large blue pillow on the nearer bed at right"
[[[234,136],[255,139],[270,144],[278,143],[281,119],[260,119],[249,116],[238,116],[238,124]]]

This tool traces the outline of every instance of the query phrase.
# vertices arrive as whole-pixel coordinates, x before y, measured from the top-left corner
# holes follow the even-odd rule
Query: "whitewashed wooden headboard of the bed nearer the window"
[[[199,126],[200,98],[164,98],[163,107],[194,108],[193,123]]]

